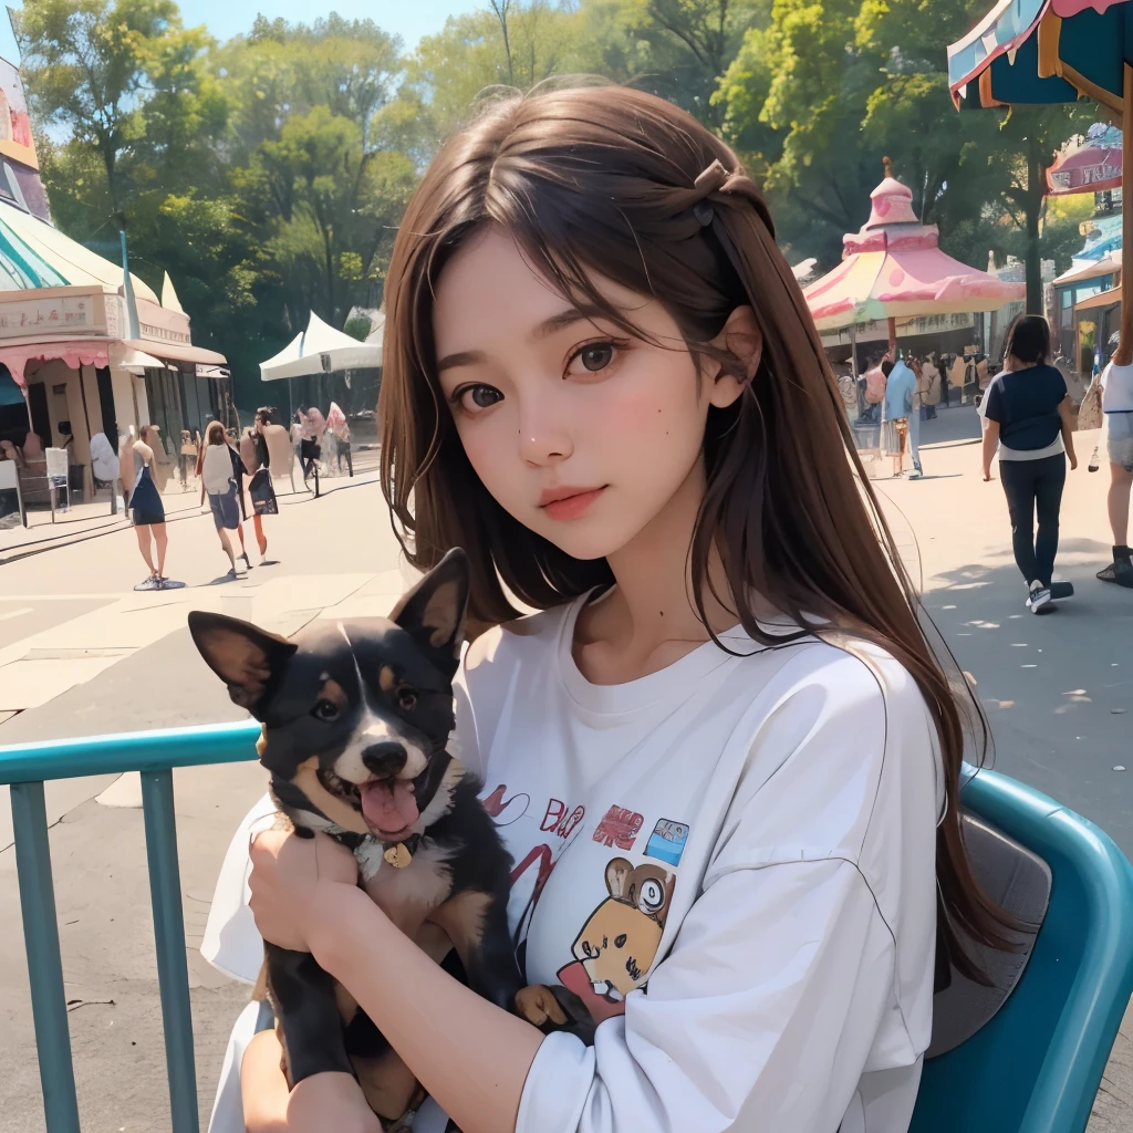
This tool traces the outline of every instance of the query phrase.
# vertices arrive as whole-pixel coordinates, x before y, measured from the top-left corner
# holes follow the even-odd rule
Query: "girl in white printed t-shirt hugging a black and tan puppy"
[[[258,835],[255,925],[369,1013],[431,1094],[415,1131],[903,1133],[937,930],[968,971],[960,935],[1003,932],[957,705],[756,187],[651,95],[536,93],[444,147],[387,286],[382,483],[414,565],[471,557],[455,739],[526,978],[595,1045],[472,995],[321,835]],[[376,1133],[352,1077],[289,1096],[273,1032],[245,1053],[255,1011],[214,1133]]]

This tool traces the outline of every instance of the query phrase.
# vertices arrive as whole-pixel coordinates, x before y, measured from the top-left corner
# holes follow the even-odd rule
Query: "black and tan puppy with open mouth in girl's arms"
[[[409,936],[433,932],[438,957],[451,940],[472,989],[512,1010],[511,859],[476,780],[446,750],[468,589],[468,560],[452,551],[389,619],[315,622],[288,640],[195,611],[189,631],[262,722],[259,759],[284,820],[349,846],[359,885],[391,920]],[[262,982],[291,1087],[353,1073],[380,1117],[402,1116],[416,1083],[310,955],[265,945]]]

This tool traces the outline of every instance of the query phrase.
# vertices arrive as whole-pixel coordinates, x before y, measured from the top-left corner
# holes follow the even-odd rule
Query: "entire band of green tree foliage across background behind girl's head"
[[[1043,172],[1097,111],[957,113],[944,49],[989,3],[480,0],[408,54],[333,12],[257,16],[218,44],[176,0],[24,0],[17,26],[56,222],[117,258],[123,221],[131,264],[155,288],[169,271],[250,403],[256,364],[310,310],[341,325],[381,304],[443,139],[483,100],[562,76],[653,91],[721,131],[792,262],[840,258],[888,154],[953,255],[1064,267],[1091,198],[1046,203]]]

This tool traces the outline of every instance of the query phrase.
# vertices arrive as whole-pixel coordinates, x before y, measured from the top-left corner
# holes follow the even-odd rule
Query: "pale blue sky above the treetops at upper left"
[[[19,7],[18,0],[12,7]],[[449,16],[479,7],[479,0],[330,0],[325,6],[310,0],[180,0],[180,7],[186,27],[204,24],[218,40],[249,31],[257,12],[295,23],[334,10],[347,19],[373,19],[384,31],[400,35],[409,49],[423,35],[441,31]],[[0,57],[12,62],[19,58],[6,15],[0,16]]]

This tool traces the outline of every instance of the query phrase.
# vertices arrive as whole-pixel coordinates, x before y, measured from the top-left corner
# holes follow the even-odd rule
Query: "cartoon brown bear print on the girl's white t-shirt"
[[[561,985],[533,985],[516,997],[519,1014],[536,1026],[593,1038],[598,1023],[625,1011],[625,996],[640,988],[665,931],[676,877],[653,862],[625,858],[606,864],[608,896],[574,940],[574,960],[559,970]]]

